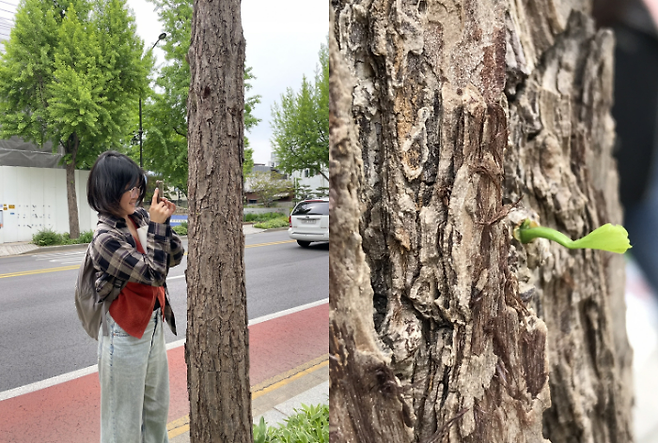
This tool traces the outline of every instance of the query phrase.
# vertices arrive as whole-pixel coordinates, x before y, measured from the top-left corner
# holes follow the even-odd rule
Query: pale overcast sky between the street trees
[[[137,32],[146,48],[158,39],[162,25],[152,3],[128,0],[137,19]],[[298,90],[302,75],[313,78],[318,51],[329,32],[327,0],[243,0],[242,28],[247,41],[246,64],[256,76],[248,95],[261,95],[255,116],[258,126],[247,134],[254,162],[270,161],[271,109],[286,88]],[[156,51],[160,63],[162,52]]]

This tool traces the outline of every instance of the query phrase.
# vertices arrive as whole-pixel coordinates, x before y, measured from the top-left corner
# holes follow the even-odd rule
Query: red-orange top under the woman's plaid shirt
[[[137,229],[137,226],[135,226],[135,229]],[[142,254],[146,254],[139,239],[134,236],[133,238],[137,244],[137,250]],[[142,338],[151,319],[151,314],[153,314],[156,297],[160,302],[164,318],[164,287],[128,282],[116,300],[110,305],[110,315],[128,334],[136,338]]]

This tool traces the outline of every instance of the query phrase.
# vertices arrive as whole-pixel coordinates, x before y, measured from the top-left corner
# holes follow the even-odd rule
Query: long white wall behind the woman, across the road
[[[96,212],[87,203],[89,171],[75,171],[80,231],[94,229]],[[43,229],[69,232],[64,169],[0,166],[0,243],[30,241]]]

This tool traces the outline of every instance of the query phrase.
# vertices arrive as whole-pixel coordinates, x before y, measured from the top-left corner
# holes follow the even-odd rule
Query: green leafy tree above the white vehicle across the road
[[[311,83],[304,77],[298,92],[288,88],[272,110],[274,153],[279,169],[310,169],[325,179],[329,167],[329,56],[326,45],[319,52],[320,65]]]

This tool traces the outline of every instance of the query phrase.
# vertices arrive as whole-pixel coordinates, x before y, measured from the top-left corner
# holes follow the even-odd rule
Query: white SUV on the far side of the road
[[[329,199],[304,200],[289,217],[288,235],[307,248],[314,241],[329,241]]]

